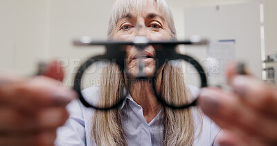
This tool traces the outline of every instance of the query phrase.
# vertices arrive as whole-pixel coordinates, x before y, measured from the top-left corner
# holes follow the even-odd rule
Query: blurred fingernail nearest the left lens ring
[[[53,102],[55,105],[65,105],[77,98],[75,91],[66,90],[53,94]]]

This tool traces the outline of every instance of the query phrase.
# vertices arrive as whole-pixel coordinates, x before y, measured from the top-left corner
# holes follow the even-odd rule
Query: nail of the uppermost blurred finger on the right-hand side
[[[245,87],[245,82],[246,82],[245,77],[243,77],[242,75],[236,76],[232,80],[233,91],[235,93],[238,93],[242,97],[247,95],[247,89]]]

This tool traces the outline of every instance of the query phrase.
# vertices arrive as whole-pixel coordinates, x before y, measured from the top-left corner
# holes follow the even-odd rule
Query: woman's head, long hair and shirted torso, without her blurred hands
[[[175,24],[166,1],[117,0],[112,8],[108,37],[132,41],[136,36],[151,40],[176,39]],[[127,46],[127,69],[132,78],[138,72],[138,51]],[[155,49],[145,48],[146,75],[155,71]],[[101,85],[84,89],[89,99],[100,97],[98,104],[112,104],[123,93],[122,79],[116,65],[102,71]],[[108,84],[109,79],[116,84]],[[163,81],[159,73],[157,86],[163,97],[175,104],[193,100],[199,91],[185,86],[181,70],[165,66]],[[107,100],[110,99],[110,100]],[[129,96],[123,105],[111,111],[85,108],[77,100],[69,105],[71,114],[57,131],[57,145],[213,145],[219,128],[197,108],[173,110],[163,107],[154,97],[152,85],[143,80],[131,82]]]

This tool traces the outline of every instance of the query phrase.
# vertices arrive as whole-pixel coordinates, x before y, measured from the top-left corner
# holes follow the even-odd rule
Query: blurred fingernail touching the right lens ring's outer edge
[[[217,95],[211,89],[202,89],[198,101],[199,106],[208,116],[216,116],[220,107],[220,102],[216,99]]]

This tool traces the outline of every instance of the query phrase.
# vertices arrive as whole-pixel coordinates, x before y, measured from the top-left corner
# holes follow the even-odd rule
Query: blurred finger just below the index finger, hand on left
[[[1,133],[18,133],[38,131],[42,129],[57,129],[64,125],[69,113],[65,108],[52,107],[36,111],[37,114],[24,113],[14,108],[0,108]]]

